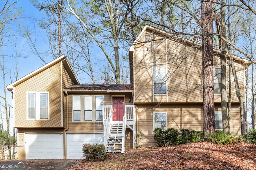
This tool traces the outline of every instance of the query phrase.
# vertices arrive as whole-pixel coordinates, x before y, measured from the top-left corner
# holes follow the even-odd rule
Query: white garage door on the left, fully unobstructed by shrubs
[[[63,159],[63,134],[25,134],[26,159]]]

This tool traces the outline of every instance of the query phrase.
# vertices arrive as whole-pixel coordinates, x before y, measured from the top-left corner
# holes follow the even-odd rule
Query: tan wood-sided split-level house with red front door
[[[216,129],[222,129],[219,55],[214,50]],[[153,130],[158,127],[202,130],[200,44],[145,26],[129,49],[129,60],[131,84],[79,84],[61,56],[8,85],[18,158],[82,158],[84,143],[102,143],[107,152],[123,152],[134,147],[139,131],[144,133],[143,146],[153,146]],[[236,56],[234,61],[244,95],[250,62]],[[230,128],[240,133],[233,82]]]

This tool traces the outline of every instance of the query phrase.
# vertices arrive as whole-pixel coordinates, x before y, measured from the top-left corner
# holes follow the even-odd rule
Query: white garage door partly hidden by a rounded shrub
[[[103,144],[102,133],[67,133],[67,159],[82,159],[83,144]]]

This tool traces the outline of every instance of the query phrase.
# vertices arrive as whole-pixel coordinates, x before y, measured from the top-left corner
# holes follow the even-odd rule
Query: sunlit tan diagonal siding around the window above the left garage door
[[[50,120],[26,120],[26,92],[49,91]],[[61,71],[60,63],[38,73],[15,87],[15,127],[59,127],[61,126]]]

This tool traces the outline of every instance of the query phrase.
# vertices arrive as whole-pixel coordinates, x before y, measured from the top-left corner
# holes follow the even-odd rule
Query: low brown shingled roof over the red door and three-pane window
[[[84,90],[84,91],[132,91],[132,84],[74,84],[64,89],[64,91]]]

